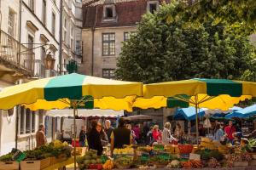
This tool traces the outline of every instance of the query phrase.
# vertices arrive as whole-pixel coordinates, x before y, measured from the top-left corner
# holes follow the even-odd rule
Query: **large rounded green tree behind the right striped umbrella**
[[[165,18],[180,8],[180,3],[174,2],[143,16],[119,55],[119,79],[148,83],[194,77],[240,78],[250,69],[254,48],[247,37],[226,32],[222,23],[200,25]]]

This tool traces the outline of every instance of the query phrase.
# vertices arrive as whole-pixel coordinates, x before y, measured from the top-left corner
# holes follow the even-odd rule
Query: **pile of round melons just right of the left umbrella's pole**
[[[97,156],[97,150],[89,150],[84,156],[77,158],[79,169],[98,169],[102,167],[102,156]],[[102,168],[100,168],[102,169]]]

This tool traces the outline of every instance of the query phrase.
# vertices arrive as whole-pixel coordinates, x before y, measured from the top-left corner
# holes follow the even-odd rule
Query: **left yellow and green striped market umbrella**
[[[33,111],[63,109],[72,106],[73,100],[83,100],[84,96],[102,99],[95,104],[98,108],[122,110],[121,106],[125,106],[127,110],[131,110],[129,105],[132,100],[136,96],[143,96],[143,83],[109,80],[76,73],[49,77],[3,88],[0,92],[0,109],[8,110],[15,105],[26,105]],[[113,105],[113,101],[117,102],[116,105]]]

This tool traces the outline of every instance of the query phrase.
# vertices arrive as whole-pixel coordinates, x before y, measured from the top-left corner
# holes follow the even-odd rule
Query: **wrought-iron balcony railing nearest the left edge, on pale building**
[[[20,43],[11,37],[4,31],[0,31],[0,58],[8,61],[9,63],[18,66],[19,68],[26,70],[28,73],[32,73],[33,64],[24,65],[26,59],[34,59],[34,53],[29,51],[24,45],[20,46],[20,59],[19,57],[19,45]]]

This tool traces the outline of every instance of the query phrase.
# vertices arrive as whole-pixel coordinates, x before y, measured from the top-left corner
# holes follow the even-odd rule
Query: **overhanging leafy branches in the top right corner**
[[[174,0],[175,2],[175,0]],[[169,18],[203,23],[212,20],[212,25],[219,22],[226,24],[226,31],[236,31],[239,35],[251,35],[256,31],[256,1],[255,0],[195,0],[188,4],[187,0],[176,0],[175,13],[167,12]]]

